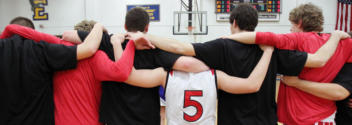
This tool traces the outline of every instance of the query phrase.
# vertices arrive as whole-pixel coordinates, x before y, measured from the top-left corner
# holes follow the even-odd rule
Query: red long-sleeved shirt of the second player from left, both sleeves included
[[[0,38],[18,34],[36,42],[73,46],[53,35],[37,32],[19,25],[8,25]],[[117,62],[111,61],[106,53],[98,50],[92,57],[77,61],[77,68],[54,73],[55,124],[98,125],[101,98],[101,81],[124,82],[131,73],[134,58],[134,42]]]

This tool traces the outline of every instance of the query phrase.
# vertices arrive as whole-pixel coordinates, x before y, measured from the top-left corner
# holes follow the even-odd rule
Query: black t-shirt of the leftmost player
[[[77,46],[0,39],[0,124],[54,125],[54,71],[75,69]]]

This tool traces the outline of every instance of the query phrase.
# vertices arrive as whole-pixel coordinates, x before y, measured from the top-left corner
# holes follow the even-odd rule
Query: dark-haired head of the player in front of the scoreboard
[[[258,25],[258,11],[250,4],[240,4],[230,15],[230,23],[235,20],[240,30],[254,31]]]

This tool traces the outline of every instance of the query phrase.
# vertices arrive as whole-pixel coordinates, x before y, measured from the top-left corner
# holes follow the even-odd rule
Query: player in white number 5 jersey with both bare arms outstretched
[[[133,69],[125,83],[146,88],[162,85],[168,125],[215,124],[217,89],[235,94],[252,93],[262,85],[274,47],[261,45],[260,48],[263,56],[248,78],[228,76],[219,70],[191,73],[157,68]]]

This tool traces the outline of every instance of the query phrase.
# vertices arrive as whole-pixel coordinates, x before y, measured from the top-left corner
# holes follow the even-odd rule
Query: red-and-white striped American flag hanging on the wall
[[[352,0],[338,0],[336,30],[350,32],[352,30]]]

